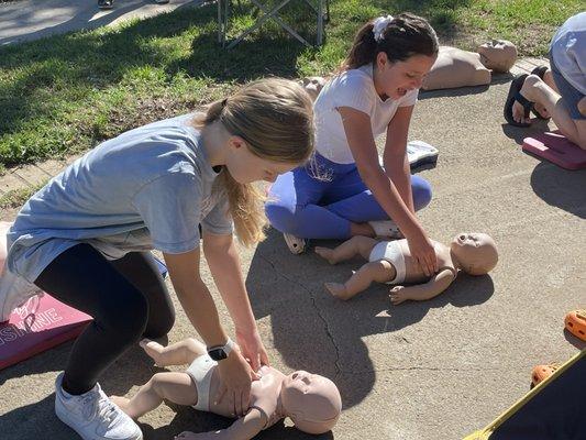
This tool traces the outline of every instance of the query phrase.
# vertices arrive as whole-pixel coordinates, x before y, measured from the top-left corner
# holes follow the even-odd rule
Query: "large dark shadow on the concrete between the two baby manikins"
[[[447,304],[483,304],[495,289],[489,276],[462,274],[436,298],[399,306],[390,305],[388,287],[382,285],[345,302],[325,292],[324,282],[345,280],[351,270],[362,264],[353,261],[330,266],[312,250],[292,255],[281,234],[270,229],[256,248],[246,279],[254,315],[256,319],[270,317],[273,344],[286,365],[332,378],[345,409],[360,404],[375,383],[376,372],[363,338],[392,333]]]

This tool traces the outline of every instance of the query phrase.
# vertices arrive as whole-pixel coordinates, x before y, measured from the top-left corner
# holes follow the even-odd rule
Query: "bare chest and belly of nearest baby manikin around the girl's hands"
[[[221,361],[220,361],[221,362]],[[267,426],[270,426],[281,419],[284,415],[277,414],[277,403],[280,394],[280,385],[285,380],[285,374],[270,366],[263,365],[258,370],[261,378],[253,381],[251,385],[251,407],[259,408],[268,417]],[[222,399],[214,405],[214,396],[220,388],[220,373],[218,366],[213,367],[210,384],[210,413],[224,417],[233,418],[232,409],[228,405],[228,399]]]

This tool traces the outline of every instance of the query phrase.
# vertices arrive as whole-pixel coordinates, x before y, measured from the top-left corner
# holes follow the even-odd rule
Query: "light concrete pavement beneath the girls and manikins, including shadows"
[[[530,70],[537,62],[521,61],[516,69]],[[360,262],[334,267],[311,252],[291,255],[274,231],[255,249],[242,250],[251,301],[274,366],[324,374],[341,389],[342,418],[333,433],[318,438],[460,439],[519,399],[529,389],[533,365],[563,362],[585,346],[563,331],[563,318],[586,306],[586,170],[567,172],[521,152],[522,139],[548,125],[504,123],[509,80],[497,77],[490,87],[422,94],[410,132],[410,139],[440,150],[436,167],[420,173],[434,190],[431,206],[419,215],[424,228],[443,242],[460,231],[490,233],[500,252],[490,276],[461,275],[449,292],[424,302],[390,306],[385,286],[341,302],[322,284],[345,279]],[[0,189],[34,185],[64,165],[11,169],[0,178]],[[2,211],[0,220],[15,213]],[[195,336],[177,301],[176,308],[172,342]],[[77,438],[53,409],[53,381],[70,346],[0,372],[2,439]],[[156,371],[134,348],[101,384],[108,394],[133,395]],[[148,440],[229,424],[174,405],[162,405],[141,422]],[[316,437],[287,424],[257,438]]]

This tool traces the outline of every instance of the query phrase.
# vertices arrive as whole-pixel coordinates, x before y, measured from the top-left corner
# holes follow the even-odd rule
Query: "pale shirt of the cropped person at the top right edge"
[[[571,16],[560,26],[550,51],[566,81],[586,95],[586,12]]]

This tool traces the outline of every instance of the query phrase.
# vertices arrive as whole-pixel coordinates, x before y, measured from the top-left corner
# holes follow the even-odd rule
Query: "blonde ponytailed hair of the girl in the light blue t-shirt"
[[[228,99],[212,102],[194,125],[220,121],[231,134],[246,141],[256,156],[288,164],[302,164],[313,153],[311,98],[297,82],[268,78],[248,84]],[[214,190],[224,191],[240,242],[254,245],[265,238],[267,223],[263,191],[255,184],[240,184],[223,167]]]

